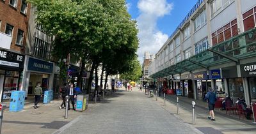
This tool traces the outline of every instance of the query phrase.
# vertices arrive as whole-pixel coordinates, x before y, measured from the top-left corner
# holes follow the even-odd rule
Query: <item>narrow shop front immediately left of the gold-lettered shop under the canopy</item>
[[[191,73],[180,75],[180,82],[182,85],[182,95],[193,98],[194,94]]]

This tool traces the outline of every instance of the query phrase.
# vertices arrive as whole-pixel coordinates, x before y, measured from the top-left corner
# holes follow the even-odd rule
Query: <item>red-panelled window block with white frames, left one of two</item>
[[[238,35],[237,20],[234,19],[212,33],[212,46]]]

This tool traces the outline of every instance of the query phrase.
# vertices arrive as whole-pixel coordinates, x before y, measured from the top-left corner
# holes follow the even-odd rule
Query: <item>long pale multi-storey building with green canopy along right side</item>
[[[149,74],[182,95],[209,88],[256,101],[256,1],[199,0],[150,64]]]

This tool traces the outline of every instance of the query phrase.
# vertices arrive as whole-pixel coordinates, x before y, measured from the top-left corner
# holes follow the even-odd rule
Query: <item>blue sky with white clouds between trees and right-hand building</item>
[[[138,24],[143,63],[145,52],[156,54],[198,0],[126,0],[127,10]]]

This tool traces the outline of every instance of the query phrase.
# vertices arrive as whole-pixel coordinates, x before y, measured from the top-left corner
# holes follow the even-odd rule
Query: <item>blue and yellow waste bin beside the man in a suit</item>
[[[76,98],[76,111],[83,111],[88,108],[89,94],[79,94]]]

